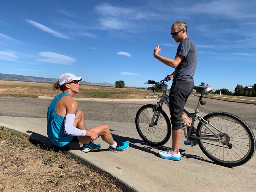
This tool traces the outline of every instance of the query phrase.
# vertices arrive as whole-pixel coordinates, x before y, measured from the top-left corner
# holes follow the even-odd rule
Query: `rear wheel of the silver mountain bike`
[[[198,139],[198,145],[209,159],[222,166],[234,167],[243,165],[252,158],[255,152],[255,136],[242,119],[227,112],[213,112],[203,119],[210,120],[222,133],[213,131],[224,139],[222,142]],[[214,134],[200,122],[196,135],[201,137]]]

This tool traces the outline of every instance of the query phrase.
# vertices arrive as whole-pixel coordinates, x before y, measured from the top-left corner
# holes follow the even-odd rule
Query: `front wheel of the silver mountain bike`
[[[171,123],[167,114],[162,110],[157,110],[159,120],[157,124],[150,127],[154,114],[154,105],[143,105],[136,114],[135,124],[140,137],[151,146],[160,146],[168,142],[171,136]]]

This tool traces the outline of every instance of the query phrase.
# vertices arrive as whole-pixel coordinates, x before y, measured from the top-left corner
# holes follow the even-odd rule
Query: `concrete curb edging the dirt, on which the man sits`
[[[14,131],[15,133],[21,133],[22,135],[29,138],[29,140],[34,140],[38,144],[46,147],[47,149],[52,149],[53,144],[50,139],[46,136],[40,135],[35,132],[28,132],[25,129],[8,125],[0,122],[0,126],[5,127],[8,130]],[[122,190],[127,192],[153,192],[147,186],[140,183],[139,181],[133,179],[127,173],[113,167],[112,165],[102,162],[100,159],[93,156],[84,156],[84,152],[80,150],[68,151],[67,154],[72,158],[78,158],[80,162],[90,169],[97,170],[100,174],[108,177],[110,180],[113,180],[116,185],[118,185]]]

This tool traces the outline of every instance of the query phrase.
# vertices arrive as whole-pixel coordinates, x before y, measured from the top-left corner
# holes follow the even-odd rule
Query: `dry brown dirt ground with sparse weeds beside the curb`
[[[0,191],[122,191],[78,160],[5,128],[0,128],[0,149]]]

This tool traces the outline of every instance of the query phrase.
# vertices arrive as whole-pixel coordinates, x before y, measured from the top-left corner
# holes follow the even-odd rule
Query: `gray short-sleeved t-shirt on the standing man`
[[[180,42],[176,56],[179,55],[184,57],[175,68],[174,80],[193,82],[197,63],[197,48],[190,38],[186,38]]]

